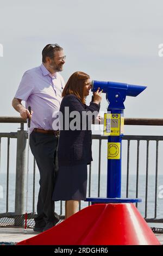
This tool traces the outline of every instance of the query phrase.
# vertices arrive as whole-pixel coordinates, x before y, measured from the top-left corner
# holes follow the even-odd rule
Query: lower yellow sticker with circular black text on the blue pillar
[[[121,143],[108,142],[108,159],[120,159]]]

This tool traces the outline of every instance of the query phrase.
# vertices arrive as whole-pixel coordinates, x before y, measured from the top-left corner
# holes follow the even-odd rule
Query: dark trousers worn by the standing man
[[[33,131],[30,134],[29,143],[40,172],[35,227],[44,227],[48,222],[55,224],[59,220],[59,216],[54,212],[54,202],[52,201],[58,171],[58,136]]]

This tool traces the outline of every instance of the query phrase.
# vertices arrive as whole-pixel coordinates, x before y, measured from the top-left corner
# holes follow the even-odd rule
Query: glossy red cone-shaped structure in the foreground
[[[160,245],[134,204],[95,204],[17,245]]]

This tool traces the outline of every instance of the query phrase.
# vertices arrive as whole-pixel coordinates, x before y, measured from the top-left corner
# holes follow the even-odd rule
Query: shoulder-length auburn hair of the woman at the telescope
[[[74,72],[66,83],[66,86],[62,92],[62,97],[68,94],[74,94],[85,104],[84,82],[89,78],[90,76],[84,72]]]

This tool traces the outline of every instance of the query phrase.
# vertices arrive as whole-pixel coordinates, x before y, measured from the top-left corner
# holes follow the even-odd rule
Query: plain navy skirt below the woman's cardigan
[[[86,163],[76,166],[60,166],[52,200],[85,200],[86,185]]]

